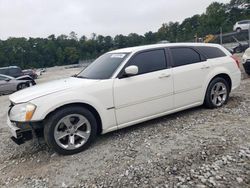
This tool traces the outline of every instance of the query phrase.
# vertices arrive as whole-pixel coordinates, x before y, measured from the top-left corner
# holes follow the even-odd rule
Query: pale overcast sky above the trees
[[[157,31],[205,12],[214,0],[0,0],[0,39]],[[217,0],[228,3],[229,0]]]

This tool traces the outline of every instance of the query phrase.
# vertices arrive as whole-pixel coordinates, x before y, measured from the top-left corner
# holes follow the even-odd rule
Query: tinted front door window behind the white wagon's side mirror
[[[153,50],[137,54],[129,65],[136,65],[138,74],[145,74],[166,68],[166,58],[164,50]]]

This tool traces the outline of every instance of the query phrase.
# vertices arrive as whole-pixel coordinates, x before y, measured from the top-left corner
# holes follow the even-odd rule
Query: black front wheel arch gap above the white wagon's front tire
[[[87,104],[87,103],[82,103],[82,102],[74,102],[74,103],[68,103],[68,104],[64,104],[62,106],[59,106],[57,108],[55,108],[54,110],[50,111],[44,118],[44,120],[46,121],[46,119],[48,119],[50,116],[52,116],[54,113],[56,113],[57,111],[61,110],[62,108],[65,107],[70,107],[70,106],[80,106],[80,107],[84,107],[86,109],[88,109],[96,118],[97,120],[97,134],[101,134],[103,127],[102,127],[102,119],[100,114],[98,113],[98,111],[91,105]]]

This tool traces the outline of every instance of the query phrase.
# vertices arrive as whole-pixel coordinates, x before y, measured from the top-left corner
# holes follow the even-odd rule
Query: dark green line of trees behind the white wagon
[[[131,33],[115,37],[92,34],[77,37],[50,35],[47,38],[8,38],[0,40],[0,66],[17,65],[21,68],[51,67],[78,63],[118,48],[169,42],[194,41],[194,37],[232,31],[239,20],[250,19],[249,0],[231,0],[228,4],[214,2],[205,13],[186,18],[183,22],[164,23],[156,32],[144,35]]]

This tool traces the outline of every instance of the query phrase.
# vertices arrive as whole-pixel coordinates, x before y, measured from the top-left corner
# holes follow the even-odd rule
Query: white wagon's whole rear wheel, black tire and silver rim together
[[[229,85],[223,78],[214,78],[208,85],[204,104],[208,108],[218,108],[226,104],[229,97]]]

